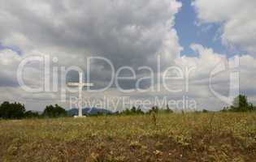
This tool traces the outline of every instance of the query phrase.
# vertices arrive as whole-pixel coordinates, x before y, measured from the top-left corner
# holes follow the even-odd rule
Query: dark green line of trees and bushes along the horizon
[[[230,107],[224,107],[220,112],[255,112],[256,107],[248,102],[247,96],[237,96]],[[115,112],[110,114],[97,113],[94,115],[87,114],[87,116],[103,116],[103,115],[142,115],[151,113],[173,113],[167,105],[166,109],[159,109],[157,106],[152,107],[150,111],[144,112],[140,107],[132,107],[132,109],[125,109],[122,112]],[[182,111],[182,113],[184,113]],[[203,109],[202,113],[209,113],[208,110]],[[46,106],[43,113],[39,114],[33,111],[26,111],[24,104],[3,102],[0,105],[0,119],[21,119],[21,118],[39,118],[39,117],[67,117],[67,111],[58,104]]]

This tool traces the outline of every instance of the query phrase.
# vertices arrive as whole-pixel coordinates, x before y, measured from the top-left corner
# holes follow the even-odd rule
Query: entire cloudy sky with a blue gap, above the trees
[[[195,109],[219,110],[242,93],[256,104],[255,7],[251,0],[0,0],[0,101],[19,101],[38,111],[47,104],[76,107],[69,99],[77,93],[62,86],[77,82],[78,74],[71,70],[61,77],[60,70],[77,66],[94,83],[93,90],[107,87],[113,68],[115,76],[136,75],[118,83],[114,79],[103,92],[84,89],[89,100],[129,97],[134,104],[167,97],[194,101]],[[20,70],[35,56],[50,58],[49,73],[43,62],[27,62]],[[88,68],[89,57],[95,62]],[[174,75],[173,69],[185,79],[159,79]],[[46,79],[57,78],[58,88],[50,82],[50,89],[28,92],[20,73],[27,87],[44,87]],[[138,91],[137,83],[149,91]],[[180,103],[173,107],[183,109]]]

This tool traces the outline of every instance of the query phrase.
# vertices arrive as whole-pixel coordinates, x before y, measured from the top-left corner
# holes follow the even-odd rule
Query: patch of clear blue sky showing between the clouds
[[[197,15],[191,6],[191,1],[180,0],[182,8],[176,15],[176,31],[180,39],[180,45],[184,51],[182,55],[196,56],[190,45],[192,43],[200,44],[208,48],[212,48],[216,53],[227,53],[228,49],[221,44],[219,38],[220,24],[209,23],[197,25]]]

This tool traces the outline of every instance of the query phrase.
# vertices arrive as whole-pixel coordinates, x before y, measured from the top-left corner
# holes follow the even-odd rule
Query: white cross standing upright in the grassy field
[[[93,87],[93,83],[83,83],[83,72],[80,71],[79,73],[79,83],[67,83],[67,86],[71,87],[78,87],[78,92],[79,92],[79,98],[78,98],[78,117],[83,117],[82,113],[82,92],[83,92],[83,87]]]

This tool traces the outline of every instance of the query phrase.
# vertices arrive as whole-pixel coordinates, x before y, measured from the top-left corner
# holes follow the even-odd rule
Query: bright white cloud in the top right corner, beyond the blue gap
[[[194,0],[201,23],[222,24],[223,45],[246,50],[256,56],[256,2],[251,0]]]

